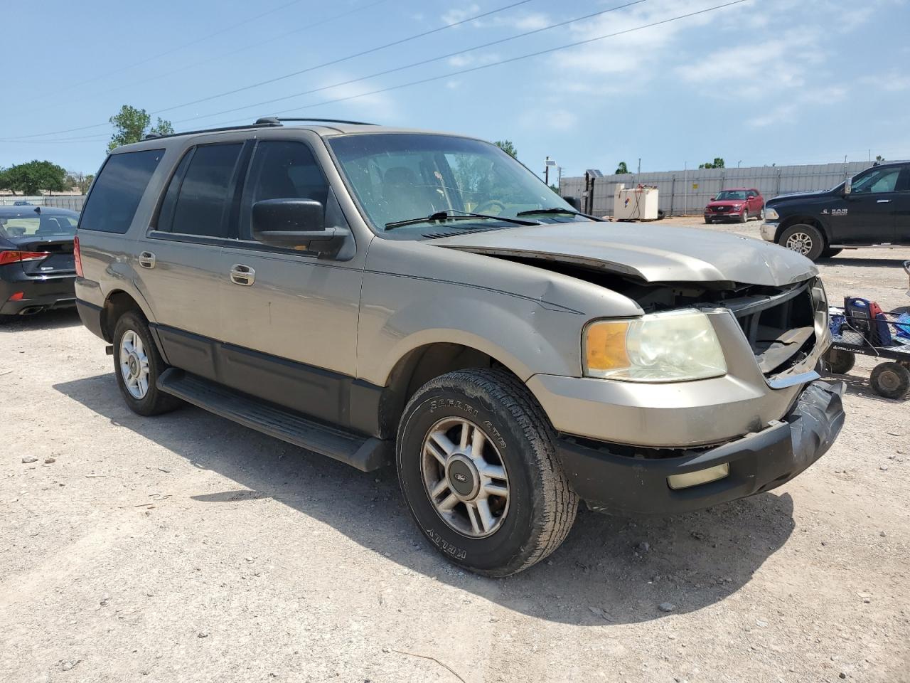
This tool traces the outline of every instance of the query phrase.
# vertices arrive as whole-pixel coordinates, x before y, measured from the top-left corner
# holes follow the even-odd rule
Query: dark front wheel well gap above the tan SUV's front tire
[[[380,409],[381,431],[389,436],[396,433],[405,405],[421,386],[446,372],[469,368],[500,368],[511,372],[488,353],[463,344],[432,343],[409,352],[389,375],[386,399]]]

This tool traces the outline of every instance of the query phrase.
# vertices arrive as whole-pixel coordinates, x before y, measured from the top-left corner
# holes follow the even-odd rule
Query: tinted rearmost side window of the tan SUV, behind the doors
[[[126,232],[164,154],[164,149],[145,149],[108,157],[82,209],[79,229]]]

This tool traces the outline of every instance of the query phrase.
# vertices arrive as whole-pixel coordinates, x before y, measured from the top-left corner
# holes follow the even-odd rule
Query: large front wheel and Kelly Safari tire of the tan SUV
[[[474,457],[478,428],[482,465],[471,470],[465,461]],[[464,443],[464,430],[470,448],[450,440]],[[420,531],[451,562],[485,576],[540,562],[569,534],[578,511],[554,442],[541,406],[507,372],[460,370],[427,382],[401,417],[396,453],[401,491]],[[493,478],[484,481],[481,470]],[[484,493],[488,486],[506,495]]]

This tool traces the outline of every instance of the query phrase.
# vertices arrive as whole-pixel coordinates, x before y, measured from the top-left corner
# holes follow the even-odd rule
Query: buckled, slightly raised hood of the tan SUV
[[[490,256],[574,263],[647,282],[781,287],[817,274],[811,260],[761,240],[642,223],[550,223],[433,240]]]

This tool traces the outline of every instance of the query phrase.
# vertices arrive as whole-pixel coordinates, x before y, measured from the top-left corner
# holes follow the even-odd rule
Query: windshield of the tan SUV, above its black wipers
[[[520,212],[564,209],[531,215],[532,221],[579,220],[527,168],[495,145],[442,135],[380,133],[329,139],[341,172],[367,218],[378,230],[440,211],[470,212],[514,219]],[[583,220],[583,219],[582,219]],[[429,221],[411,229],[426,229]],[[497,225],[495,219],[453,221],[458,229]]]

